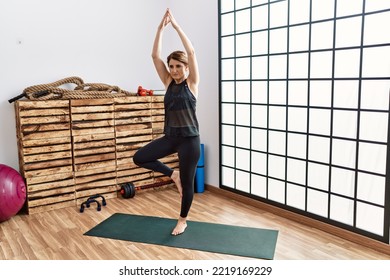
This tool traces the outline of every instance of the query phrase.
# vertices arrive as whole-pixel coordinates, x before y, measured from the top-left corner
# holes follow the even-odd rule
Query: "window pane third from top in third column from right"
[[[310,76],[312,78],[332,77],[332,52],[311,53]]]

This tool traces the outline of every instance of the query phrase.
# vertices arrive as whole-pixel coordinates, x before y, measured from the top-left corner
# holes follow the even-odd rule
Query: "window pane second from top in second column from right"
[[[362,17],[351,17],[336,21],[336,48],[360,46]]]

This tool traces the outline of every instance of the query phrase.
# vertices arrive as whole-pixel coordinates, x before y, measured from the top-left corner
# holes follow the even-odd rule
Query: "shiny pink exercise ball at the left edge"
[[[26,201],[26,183],[18,171],[0,164],[0,222],[6,221],[22,209]]]

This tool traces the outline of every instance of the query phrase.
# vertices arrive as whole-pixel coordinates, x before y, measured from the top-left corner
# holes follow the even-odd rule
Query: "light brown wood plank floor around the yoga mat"
[[[114,213],[176,218],[178,193],[172,188],[137,193],[132,199],[110,199],[102,211],[95,205],[34,215],[17,215],[0,223],[1,260],[245,260],[202,251],[84,236]],[[298,224],[206,190],[195,194],[193,221],[279,231],[275,260],[389,260],[390,256]],[[159,234],[156,232],[156,234]],[[207,232],[204,233],[207,235]]]

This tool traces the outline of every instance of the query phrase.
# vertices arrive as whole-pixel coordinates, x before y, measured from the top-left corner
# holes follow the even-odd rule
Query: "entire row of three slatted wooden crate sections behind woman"
[[[27,211],[118,196],[120,185],[170,181],[136,166],[134,153],[164,125],[163,96],[15,102],[20,172]],[[178,167],[177,155],[162,159]]]

